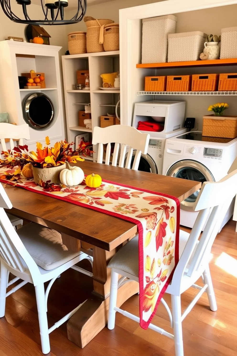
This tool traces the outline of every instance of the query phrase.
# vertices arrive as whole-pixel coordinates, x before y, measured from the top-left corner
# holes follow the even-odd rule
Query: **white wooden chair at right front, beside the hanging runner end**
[[[214,289],[212,286],[211,275],[209,270],[209,261],[211,258],[211,246],[219,231],[219,227],[225,213],[230,206],[230,203],[237,192],[237,170],[228,174],[219,182],[204,182],[196,203],[195,211],[199,211],[190,234],[180,230],[179,237],[179,262],[174,270],[172,281],[170,282],[166,293],[171,294],[171,310],[164,300],[161,300],[165,305],[169,314],[171,328],[173,334],[159,328],[154,324],[150,324],[149,328],[166,335],[174,340],[175,355],[183,356],[183,336],[182,336],[182,321],[194,307],[195,303],[206,292],[210,304],[210,309],[217,310]],[[201,234],[202,227],[210,213],[208,222]],[[199,236],[201,234],[200,240]],[[128,313],[116,306],[118,276],[123,276],[129,280],[138,282],[138,236],[130,240],[123,246],[111,259],[108,264],[112,268],[111,290],[109,299],[109,314],[108,314],[108,329],[114,329],[115,313],[119,312],[130,319],[139,322],[139,317]],[[204,286],[196,284],[199,278],[202,278]],[[124,282],[123,282],[124,283]],[[186,310],[181,310],[181,294],[188,288],[194,287],[199,290],[194,299],[189,304]],[[158,313],[159,308],[157,309]],[[139,311],[138,311],[139,313]]]

